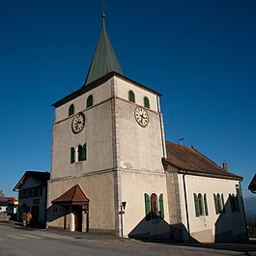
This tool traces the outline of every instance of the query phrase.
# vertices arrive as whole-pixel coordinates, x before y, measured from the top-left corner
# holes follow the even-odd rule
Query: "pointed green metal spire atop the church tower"
[[[96,47],[96,51],[88,71],[85,86],[99,79],[111,71],[116,71],[123,74],[119,65],[115,51],[110,43],[110,40],[105,30],[105,3],[102,3],[102,29],[100,39]]]

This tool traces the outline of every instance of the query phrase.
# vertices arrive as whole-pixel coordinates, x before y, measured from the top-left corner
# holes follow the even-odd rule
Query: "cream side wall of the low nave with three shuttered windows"
[[[183,175],[180,178],[180,191],[184,192]],[[239,200],[240,212],[231,212],[229,194],[237,195],[236,185],[238,181],[227,179],[207,178],[200,176],[185,176],[185,189],[187,199],[187,210],[190,235],[199,242],[214,242],[216,236],[239,236],[245,233],[244,218],[242,212],[242,201]],[[207,194],[209,215],[196,217],[194,205],[194,193]],[[225,213],[215,213],[213,194],[223,193],[225,202]],[[185,196],[181,194],[181,204],[185,211]],[[182,217],[187,228],[185,212]]]

